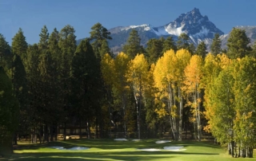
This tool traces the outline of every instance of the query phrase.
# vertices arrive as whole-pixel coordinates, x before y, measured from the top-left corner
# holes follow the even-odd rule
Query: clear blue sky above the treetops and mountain
[[[21,27],[29,44],[39,41],[46,25],[74,26],[77,38],[89,37],[100,22],[106,29],[150,24],[163,26],[198,8],[215,26],[229,33],[234,26],[256,26],[255,0],[0,0],[0,33],[11,43]]]

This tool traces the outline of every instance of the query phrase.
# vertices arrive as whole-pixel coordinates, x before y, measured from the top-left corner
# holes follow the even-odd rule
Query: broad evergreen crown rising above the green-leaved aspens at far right
[[[238,28],[233,28],[230,32],[230,37],[227,40],[227,56],[231,59],[242,58],[249,54],[250,38],[246,36],[246,31]]]

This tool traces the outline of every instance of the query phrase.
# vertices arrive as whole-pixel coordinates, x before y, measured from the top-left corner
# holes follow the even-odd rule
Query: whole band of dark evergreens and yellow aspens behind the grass
[[[215,34],[210,52],[186,33],[140,45],[132,30],[123,52],[111,53],[110,32],[100,23],[76,44],[65,26],[28,45],[22,29],[11,46],[0,34],[0,151],[29,135],[31,143],[57,139],[58,128],[79,135],[156,138],[182,132],[200,141],[209,132],[233,157],[252,157],[256,143],[256,44],[232,29],[227,49]],[[82,133],[86,128],[86,133]]]

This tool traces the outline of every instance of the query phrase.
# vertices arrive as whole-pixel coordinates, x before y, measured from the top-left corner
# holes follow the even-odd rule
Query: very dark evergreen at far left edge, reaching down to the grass
[[[13,152],[12,139],[18,127],[19,105],[10,78],[0,67],[0,155]]]

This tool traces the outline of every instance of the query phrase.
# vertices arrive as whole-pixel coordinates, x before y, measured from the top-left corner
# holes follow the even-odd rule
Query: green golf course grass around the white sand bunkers
[[[114,141],[113,139],[70,139],[45,144],[20,144],[20,150],[15,150],[6,160],[256,160],[232,159],[224,148],[207,142],[170,142],[156,144],[157,139],[146,139],[138,142]],[[181,145],[186,151],[138,151],[138,148],[163,148],[165,146]],[[90,150],[69,151],[56,150],[51,146],[90,147]],[[254,151],[256,153],[256,151]],[[2,161],[2,159],[0,159]]]

